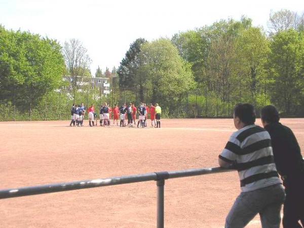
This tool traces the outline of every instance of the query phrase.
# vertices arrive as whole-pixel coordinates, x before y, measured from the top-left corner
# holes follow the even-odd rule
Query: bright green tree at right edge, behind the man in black
[[[273,36],[269,56],[271,99],[287,115],[303,112],[304,34],[294,29]]]

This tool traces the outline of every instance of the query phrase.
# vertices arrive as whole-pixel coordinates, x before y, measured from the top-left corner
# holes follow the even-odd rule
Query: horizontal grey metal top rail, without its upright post
[[[167,173],[169,173],[169,176],[167,175],[166,179],[204,175],[204,174],[211,174],[218,172],[227,172],[227,171],[232,171],[232,169],[216,167],[216,168],[204,168],[204,169],[188,169],[188,170],[180,170],[180,171],[166,171]],[[0,190],[0,199],[31,196],[31,195],[45,194],[45,193],[57,193],[57,192],[72,191],[72,190],[84,189],[90,187],[102,187],[102,186],[110,186],[110,185],[125,184],[125,183],[136,183],[142,181],[159,180],[160,175],[157,175],[159,173],[163,173],[163,172],[2,189]]]

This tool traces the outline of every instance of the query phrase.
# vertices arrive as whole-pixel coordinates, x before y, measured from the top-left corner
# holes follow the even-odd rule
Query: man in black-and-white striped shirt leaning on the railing
[[[285,192],[274,163],[270,135],[254,123],[253,106],[237,104],[234,125],[238,131],[218,159],[221,167],[232,165],[238,170],[242,190],[226,217],[225,227],[245,227],[257,213],[262,227],[280,227]]]

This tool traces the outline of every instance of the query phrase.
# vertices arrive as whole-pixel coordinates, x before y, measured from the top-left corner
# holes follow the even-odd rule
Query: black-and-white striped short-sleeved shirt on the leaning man
[[[242,192],[281,183],[270,135],[259,126],[249,125],[233,133],[219,158],[236,164]]]

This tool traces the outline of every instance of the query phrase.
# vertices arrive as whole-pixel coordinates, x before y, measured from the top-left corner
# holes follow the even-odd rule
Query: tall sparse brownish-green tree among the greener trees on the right
[[[236,70],[236,40],[243,23],[232,19],[213,23],[209,28],[210,49],[205,80],[209,91],[216,91],[222,101],[229,100]],[[233,89],[234,90],[234,89]]]

